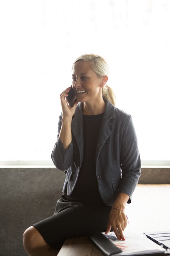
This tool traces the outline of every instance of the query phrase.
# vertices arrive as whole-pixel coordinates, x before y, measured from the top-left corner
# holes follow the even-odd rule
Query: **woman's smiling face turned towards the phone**
[[[77,101],[92,102],[101,99],[103,79],[93,71],[90,62],[77,61],[73,65],[72,79]]]

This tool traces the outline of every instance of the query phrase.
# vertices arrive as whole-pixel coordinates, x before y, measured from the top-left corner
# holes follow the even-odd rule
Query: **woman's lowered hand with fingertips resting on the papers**
[[[106,234],[110,232],[110,229],[113,228],[115,235],[119,240],[125,240],[124,229],[128,224],[128,218],[124,211],[119,209],[112,208],[108,218],[108,225],[106,229]]]

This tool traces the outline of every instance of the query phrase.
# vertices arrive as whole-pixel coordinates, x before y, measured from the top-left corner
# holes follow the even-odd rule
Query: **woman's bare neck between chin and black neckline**
[[[106,103],[102,99],[95,103],[84,102],[83,103],[83,114],[84,115],[99,115],[105,111]]]

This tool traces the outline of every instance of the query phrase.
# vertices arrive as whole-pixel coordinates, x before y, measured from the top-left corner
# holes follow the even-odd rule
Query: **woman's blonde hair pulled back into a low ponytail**
[[[109,69],[108,64],[106,60],[99,55],[96,54],[84,54],[79,56],[73,63],[73,65],[77,61],[86,61],[91,62],[93,71],[97,74],[97,76],[109,76]],[[73,66],[72,66],[73,69]],[[115,106],[115,93],[113,92],[113,89],[110,88],[110,86],[105,85],[102,89],[102,96],[104,99],[108,100],[110,103],[112,103]]]

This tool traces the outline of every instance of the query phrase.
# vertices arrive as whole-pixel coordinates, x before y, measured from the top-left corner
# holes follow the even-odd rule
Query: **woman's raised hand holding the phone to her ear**
[[[68,88],[66,88],[66,90],[64,90],[60,94],[60,100],[61,100],[61,104],[62,104],[62,114],[63,114],[64,118],[72,118],[75,113],[77,104],[78,104],[78,101],[76,101],[72,108],[71,108],[71,106],[69,106],[66,97],[68,96],[68,92],[70,91],[70,89],[71,89],[71,87],[68,87]]]

